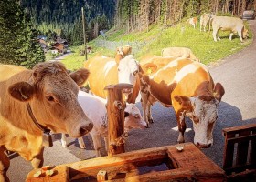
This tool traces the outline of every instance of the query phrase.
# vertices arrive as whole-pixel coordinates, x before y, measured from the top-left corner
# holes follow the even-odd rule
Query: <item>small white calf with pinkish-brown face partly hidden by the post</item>
[[[107,101],[100,96],[93,96],[83,91],[79,92],[78,100],[84,113],[86,113],[94,124],[90,135],[92,137],[94,149],[96,150],[96,157],[101,157],[101,137],[104,137],[105,146],[108,147]],[[146,122],[141,116],[140,110],[134,104],[126,104],[126,108],[124,109],[124,117],[125,133],[127,133],[131,128],[142,129],[146,126]],[[65,134],[62,134],[61,143],[62,147],[67,147]],[[85,148],[82,137],[79,138],[79,143],[81,148]]]

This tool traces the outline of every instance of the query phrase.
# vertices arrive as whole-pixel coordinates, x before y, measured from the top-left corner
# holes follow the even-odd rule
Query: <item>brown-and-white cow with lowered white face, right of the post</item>
[[[176,59],[153,76],[139,76],[143,103],[153,96],[163,106],[174,107],[179,143],[185,141],[185,116],[188,116],[193,121],[194,143],[198,147],[213,144],[212,131],[224,88],[219,83],[214,85],[206,66],[190,59]]]

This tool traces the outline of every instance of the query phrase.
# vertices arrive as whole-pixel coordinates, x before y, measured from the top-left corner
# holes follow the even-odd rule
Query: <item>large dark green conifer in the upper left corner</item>
[[[0,1],[0,62],[31,68],[45,60],[29,19],[16,0]]]

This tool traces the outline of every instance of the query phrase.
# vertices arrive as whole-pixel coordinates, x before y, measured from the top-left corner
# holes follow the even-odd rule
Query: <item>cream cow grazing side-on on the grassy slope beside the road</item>
[[[230,31],[229,40],[232,40],[232,35],[238,33],[240,42],[247,38],[248,30],[245,28],[243,21],[238,17],[216,16],[212,20],[212,35],[215,42],[220,40],[218,31]]]

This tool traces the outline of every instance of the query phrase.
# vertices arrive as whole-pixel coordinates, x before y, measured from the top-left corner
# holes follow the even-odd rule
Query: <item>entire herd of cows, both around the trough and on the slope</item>
[[[189,24],[196,21],[189,20]],[[201,27],[213,28],[214,40],[218,30],[238,32],[240,40],[247,30],[242,20],[234,17],[204,14]],[[0,181],[9,181],[6,171],[10,160],[6,151],[14,151],[31,161],[34,168],[42,167],[44,143],[48,132],[66,136],[92,137],[96,157],[100,157],[101,137],[107,142],[107,93],[105,86],[118,83],[133,85],[125,96],[125,132],[130,128],[149,127],[154,122],[151,106],[160,102],[173,107],[179,130],[178,143],[185,142],[185,117],[193,122],[194,143],[207,148],[213,144],[212,131],[218,118],[218,106],[225,91],[214,83],[208,67],[186,47],[168,47],[162,56],[145,56],[138,62],[129,45],[118,47],[116,56],[95,56],[84,68],[68,73],[59,62],[40,63],[32,70],[20,66],[0,65]],[[93,95],[79,90],[87,83]],[[141,98],[143,116],[134,105]],[[108,145],[105,145],[108,147]],[[107,148],[106,148],[107,149]]]

